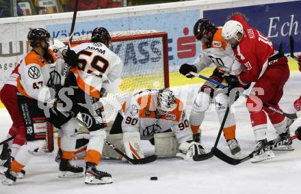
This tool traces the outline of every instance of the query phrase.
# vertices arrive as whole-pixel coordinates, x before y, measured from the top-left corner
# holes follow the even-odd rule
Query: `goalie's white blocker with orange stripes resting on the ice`
[[[125,154],[130,158],[144,158],[139,132],[123,133],[123,146],[125,147]]]

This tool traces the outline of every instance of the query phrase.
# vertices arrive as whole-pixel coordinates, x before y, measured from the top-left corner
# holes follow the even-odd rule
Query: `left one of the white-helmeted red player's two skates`
[[[252,152],[253,154],[255,154],[255,156],[250,159],[251,163],[259,163],[261,161],[274,158],[274,153],[267,147],[267,139],[262,139],[256,142],[256,147]]]

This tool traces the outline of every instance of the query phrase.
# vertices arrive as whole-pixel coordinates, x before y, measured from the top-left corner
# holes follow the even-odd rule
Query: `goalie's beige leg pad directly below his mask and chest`
[[[176,156],[179,150],[179,143],[173,132],[155,133],[155,154],[161,157]]]

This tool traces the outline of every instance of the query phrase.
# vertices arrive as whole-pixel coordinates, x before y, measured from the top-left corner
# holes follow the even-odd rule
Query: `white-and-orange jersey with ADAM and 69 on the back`
[[[107,83],[120,79],[123,63],[113,51],[100,42],[88,42],[75,46],[79,65],[70,68],[77,77],[77,85],[84,92],[100,98],[99,90]]]

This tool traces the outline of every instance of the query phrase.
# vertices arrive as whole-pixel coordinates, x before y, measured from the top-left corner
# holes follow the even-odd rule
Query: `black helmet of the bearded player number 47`
[[[47,40],[50,38],[50,33],[46,29],[34,28],[31,29],[27,35],[27,40],[30,42],[30,46],[40,46],[40,40]]]

